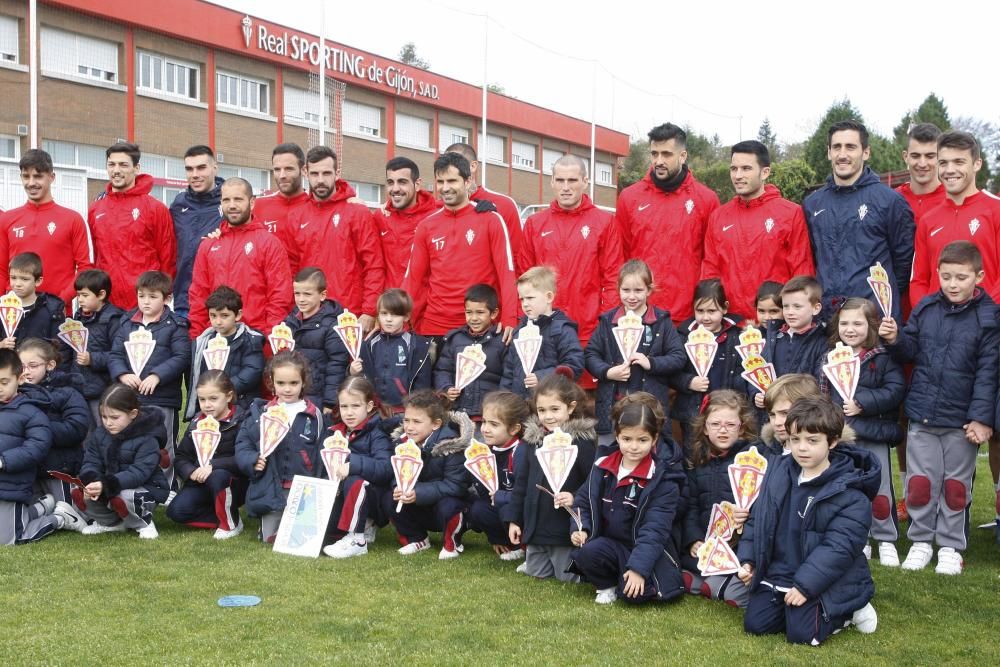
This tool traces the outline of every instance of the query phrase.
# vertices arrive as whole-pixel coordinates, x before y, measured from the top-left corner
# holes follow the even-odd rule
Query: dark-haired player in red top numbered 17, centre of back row
[[[413,295],[414,329],[443,336],[465,323],[465,292],[484,283],[500,295],[500,322],[517,324],[514,259],[507,228],[489,202],[468,199],[469,161],[444,153],[434,178],[444,207],[417,225],[403,289]]]

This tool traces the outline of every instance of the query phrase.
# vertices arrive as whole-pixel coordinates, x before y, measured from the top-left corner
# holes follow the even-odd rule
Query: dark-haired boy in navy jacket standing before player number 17
[[[444,344],[434,366],[434,388],[444,391],[453,402],[473,421],[483,413],[483,397],[500,387],[507,346],[498,335],[494,321],[500,316],[500,297],[489,285],[473,285],[465,293],[465,326],[452,329],[444,337]],[[455,368],[458,353],[469,345],[480,345],[486,355],[486,370],[461,391],[455,388]]]

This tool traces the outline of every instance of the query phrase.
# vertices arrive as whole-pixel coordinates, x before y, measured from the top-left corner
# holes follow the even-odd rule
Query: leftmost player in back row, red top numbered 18
[[[38,149],[18,163],[28,201],[0,215],[0,290],[8,289],[7,264],[15,255],[34,252],[45,267],[45,289],[63,303],[76,297],[73,281],[94,268],[90,228],[80,214],[52,201],[52,158]]]

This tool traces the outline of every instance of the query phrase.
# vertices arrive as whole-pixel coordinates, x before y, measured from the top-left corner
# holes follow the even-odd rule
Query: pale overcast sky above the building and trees
[[[216,2],[319,32],[320,0]],[[1000,123],[995,1],[329,2],[326,37],[392,58],[412,41],[432,71],[481,85],[487,23],[490,83],[588,120],[596,106],[634,136],[670,120],[729,144],[766,116],[780,142],[800,141],[844,97],[890,135],[932,91],[952,118]]]

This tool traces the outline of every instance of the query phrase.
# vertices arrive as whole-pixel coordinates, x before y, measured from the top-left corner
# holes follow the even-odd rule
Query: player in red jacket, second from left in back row
[[[109,147],[108,186],[90,205],[87,224],[94,239],[94,264],[111,276],[111,303],[136,307],[136,279],[146,271],[177,272],[177,240],[170,211],[150,195],[153,177],[139,173],[139,147]]]

